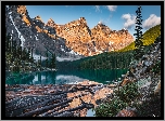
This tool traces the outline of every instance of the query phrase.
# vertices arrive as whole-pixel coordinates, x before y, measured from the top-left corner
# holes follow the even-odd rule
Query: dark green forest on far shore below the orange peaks
[[[126,69],[132,59],[132,51],[105,52],[74,62],[58,63],[59,69]]]

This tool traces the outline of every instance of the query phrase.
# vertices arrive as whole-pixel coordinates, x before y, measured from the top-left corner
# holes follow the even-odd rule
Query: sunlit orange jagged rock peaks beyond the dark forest
[[[47,25],[53,27],[56,35],[66,40],[66,46],[84,56],[120,50],[134,41],[132,36],[126,29],[111,30],[103,24],[89,29],[85,17],[65,25],[56,25],[50,18]]]

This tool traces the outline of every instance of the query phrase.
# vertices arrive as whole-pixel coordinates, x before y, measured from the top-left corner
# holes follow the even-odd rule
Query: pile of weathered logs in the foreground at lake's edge
[[[5,117],[78,117],[77,110],[94,107],[91,102],[85,102],[85,97],[89,96],[89,93],[94,96],[96,86],[98,90],[103,88],[101,84],[8,85],[5,86]],[[42,93],[41,91],[34,93],[36,90],[41,90]],[[76,95],[68,96],[68,94]],[[11,95],[13,95],[12,98],[8,99]],[[79,99],[80,104],[73,107],[71,104],[75,99]]]

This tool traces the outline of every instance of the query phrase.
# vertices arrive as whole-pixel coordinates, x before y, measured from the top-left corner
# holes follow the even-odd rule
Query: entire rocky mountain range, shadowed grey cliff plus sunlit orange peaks
[[[45,24],[38,15],[30,18],[25,5],[9,5],[5,11],[7,32],[22,45],[35,49],[45,56],[47,49],[59,57],[81,58],[119,50],[134,41],[128,30],[111,30],[103,24],[89,29],[85,17],[65,25],[52,18]]]

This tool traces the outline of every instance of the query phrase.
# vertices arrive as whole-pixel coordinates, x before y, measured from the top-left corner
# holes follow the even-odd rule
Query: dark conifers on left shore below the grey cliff
[[[41,60],[41,54],[38,60],[35,60],[33,53],[34,49],[23,48],[21,39],[18,42],[13,39],[11,33],[7,33],[5,28],[5,70],[7,71],[35,71],[45,70],[47,68],[55,68],[55,54],[51,57],[46,52],[47,59]]]

